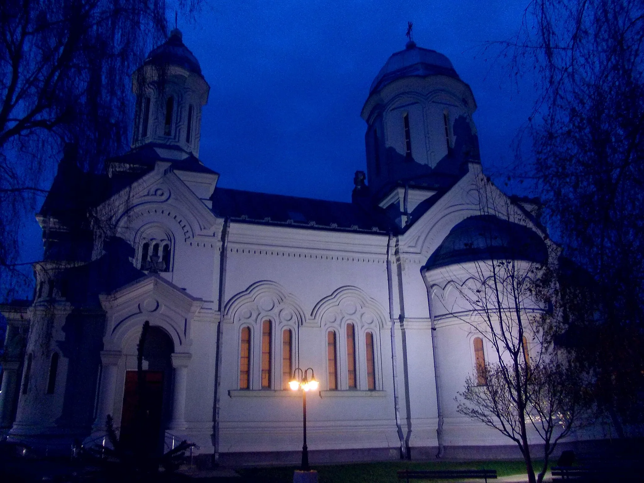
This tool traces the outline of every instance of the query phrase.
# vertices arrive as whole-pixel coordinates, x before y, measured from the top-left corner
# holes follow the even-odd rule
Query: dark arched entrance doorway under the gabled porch
[[[142,370],[125,375],[120,441],[135,452],[159,454],[171,413],[172,339],[151,326],[144,341]]]

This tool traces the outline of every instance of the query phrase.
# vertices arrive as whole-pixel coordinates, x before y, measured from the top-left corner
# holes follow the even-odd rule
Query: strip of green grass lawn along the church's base
[[[538,464],[539,462],[535,462]],[[319,483],[398,483],[399,469],[496,469],[499,477],[526,473],[523,461],[413,462],[392,461],[316,466]],[[540,468],[540,466],[537,466]],[[287,468],[240,468],[236,471],[248,482],[290,483],[293,470]]]

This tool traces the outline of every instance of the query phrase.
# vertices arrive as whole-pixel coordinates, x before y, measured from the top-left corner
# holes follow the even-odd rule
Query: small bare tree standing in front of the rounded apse
[[[527,227],[522,206],[480,177],[477,256],[455,272],[459,305],[450,307],[488,348],[459,393],[458,411],[516,443],[530,482],[541,482],[558,441],[580,423],[582,374],[554,344],[562,324],[558,249]],[[548,246],[550,248],[548,248]],[[459,314],[467,314],[460,316]],[[479,349],[483,351],[483,346]],[[542,442],[535,480],[531,444]]]

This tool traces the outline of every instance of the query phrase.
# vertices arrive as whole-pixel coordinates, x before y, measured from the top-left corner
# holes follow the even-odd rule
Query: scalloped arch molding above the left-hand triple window
[[[301,304],[293,294],[270,280],[252,283],[246,290],[232,296],[223,308],[226,323],[260,323],[268,317],[278,327],[299,327],[307,320]]]

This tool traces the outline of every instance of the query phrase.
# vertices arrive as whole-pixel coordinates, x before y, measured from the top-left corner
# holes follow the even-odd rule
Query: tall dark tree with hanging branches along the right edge
[[[641,436],[644,3],[531,0],[516,37],[496,45],[538,91],[526,131],[535,164],[524,175],[536,179],[565,256],[594,281],[589,305],[567,310],[582,336],[576,359],[618,435]]]

